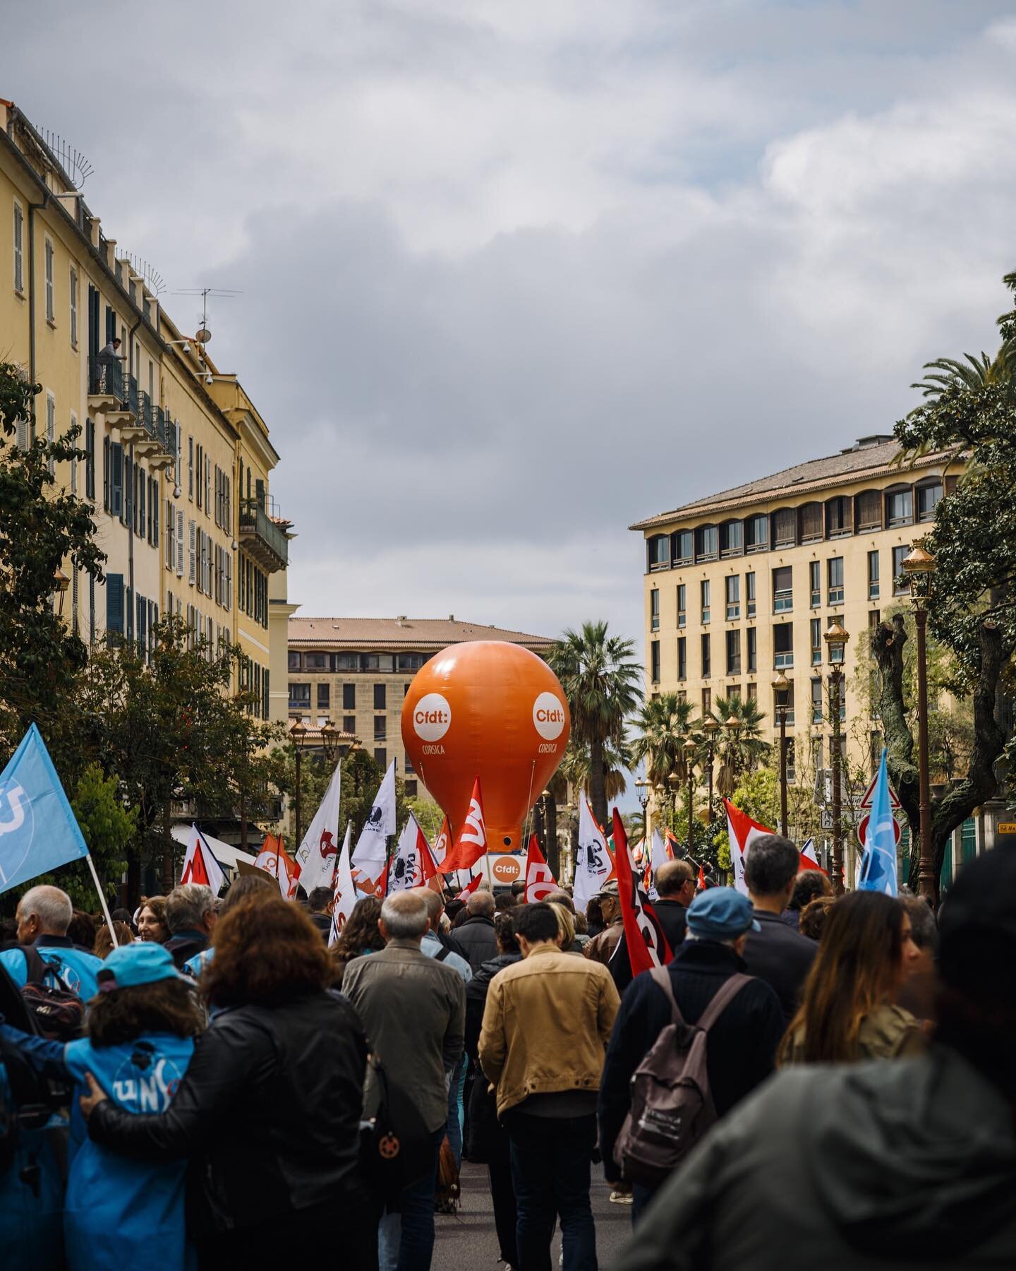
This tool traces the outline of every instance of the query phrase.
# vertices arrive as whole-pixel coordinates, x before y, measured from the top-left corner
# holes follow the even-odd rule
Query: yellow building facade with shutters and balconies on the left
[[[278,454],[264,421],[203,333],[169,319],[10,102],[0,243],[0,350],[42,385],[37,430],[80,426],[88,459],[62,465],[57,483],[91,501],[107,554],[103,583],[71,571],[67,620],[89,644],[118,632],[150,649],[155,623],[174,613],[213,644],[239,643],[237,686],[268,718],[269,578],[284,574],[290,526],[272,506]],[[284,648],[284,629],[277,637]]]

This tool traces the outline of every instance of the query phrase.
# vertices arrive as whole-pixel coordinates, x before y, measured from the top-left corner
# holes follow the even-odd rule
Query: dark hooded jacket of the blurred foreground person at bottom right
[[[615,1271],[1016,1266],[1012,1108],[944,1046],[787,1069],[657,1193]]]

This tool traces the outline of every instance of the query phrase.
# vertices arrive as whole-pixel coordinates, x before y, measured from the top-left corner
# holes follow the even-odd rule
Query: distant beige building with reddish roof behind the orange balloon
[[[554,641],[448,618],[290,618],[290,718],[331,724],[381,768],[394,759],[406,794],[424,794],[403,746],[403,698],[434,653],[464,641],[498,639],[546,657]],[[312,733],[311,733],[312,737]]]

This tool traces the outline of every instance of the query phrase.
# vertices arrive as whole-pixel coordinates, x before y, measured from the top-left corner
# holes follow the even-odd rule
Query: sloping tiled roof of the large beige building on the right
[[[724,512],[747,503],[763,503],[781,494],[791,494],[796,500],[809,491],[826,489],[847,480],[859,480],[862,477],[886,475],[895,470],[899,470],[900,480],[906,480],[906,473],[911,470],[911,465],[895,469],[894,461],[898,455],[899,444],[892,440],[852,447],[824,459],[809,459],[792,468],[784,468],[771,477],[761,477],[757,480],[745,482],[743,486],[734,486],[733,489],[720,491],[719,494],[709,494],[706,498],[685,503],[671,512],[648,516],[645,520],[630,525],[629,529],[650,530],[660,525],[669,525],[678,517],[691,519],[705,512]],[[926,455],[918,459],[913,466],[936,466],[945,458],[942,454]]]

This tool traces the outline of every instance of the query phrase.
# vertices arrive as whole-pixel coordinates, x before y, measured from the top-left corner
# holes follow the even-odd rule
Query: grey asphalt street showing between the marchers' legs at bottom
[[[434,1218],[437,1240],[433,1265],[442,1271],[498,1271],[498,1238],[486,1185],[486,1167],[462,1162],[462,1202],[453,1215]],[[593,1166],[593,1218],[596,1219],[597,1261],[610,1271],[615,1256],[631,1232],[631,1207],[611,1205],[603,1171]],[[552,1265],[558,1266],[560,1232],[554,1237]]]

